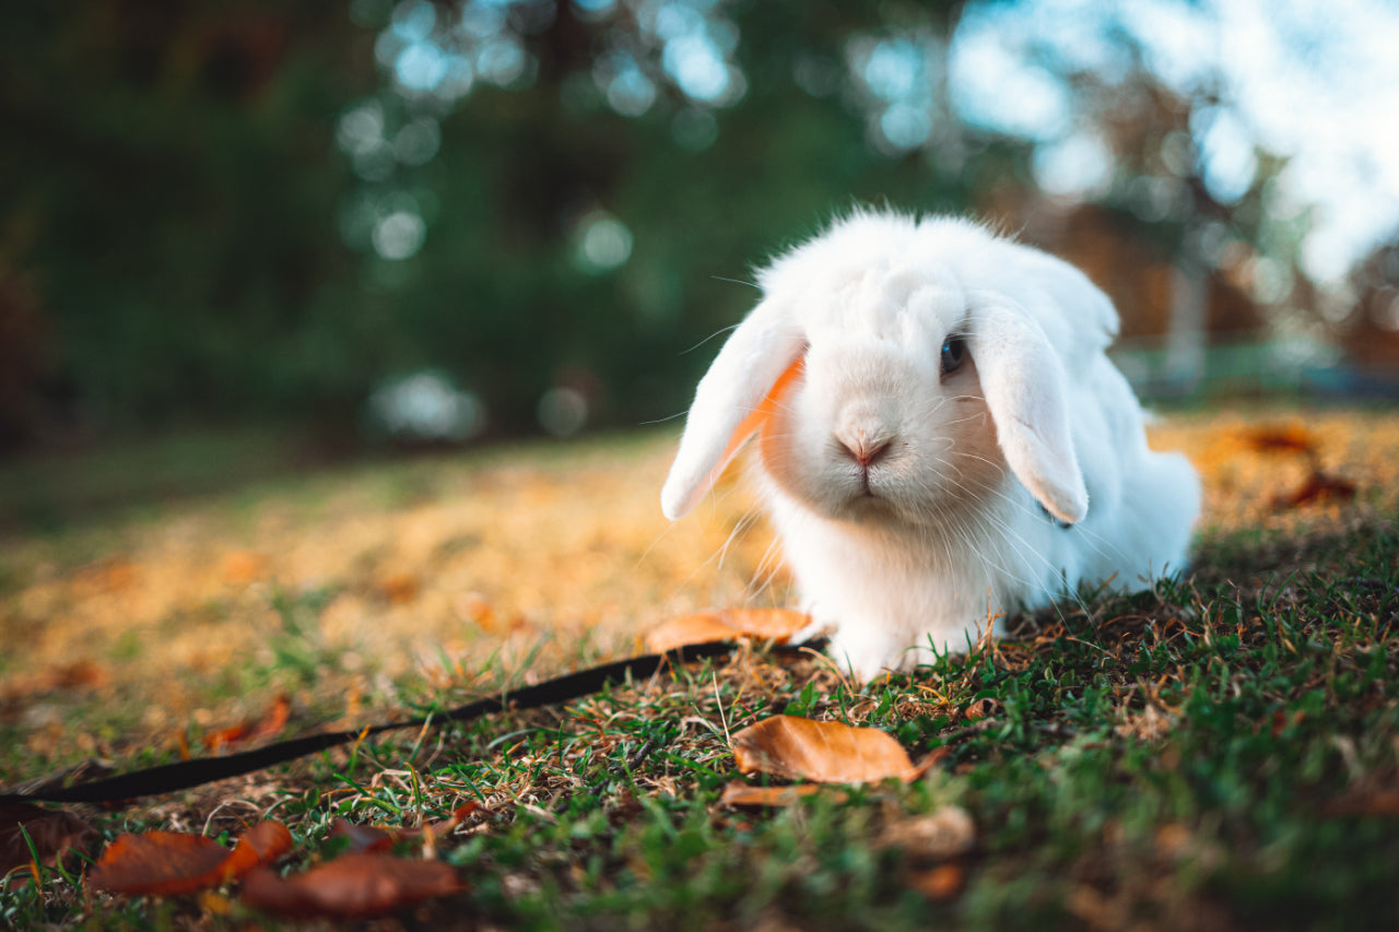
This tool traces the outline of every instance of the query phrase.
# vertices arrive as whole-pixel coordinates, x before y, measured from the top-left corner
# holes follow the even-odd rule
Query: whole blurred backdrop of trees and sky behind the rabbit
[[[1382,0],[74,0],[0,48],[11,462],[660,421],[858,203],[1081,266],[1149,399],[1399,392]]]

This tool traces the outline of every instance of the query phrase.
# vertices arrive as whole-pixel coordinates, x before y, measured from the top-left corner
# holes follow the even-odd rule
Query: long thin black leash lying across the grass
[[[820,649],[816,641],[804,645],[774,645],[774,652],[783,655],[803,654],[810,649]],[[737,649],[733,641],[716,641],[712,644],[687,644],[665,654],[645,654],[642,656],[603,663],[576,673],[546,680],[537,686],[490,696],[485,698],[459,705],[445,712],[434,712],[422,718],[406,722],[386,722],[369,728],[360,728],[346,732],[326,732],[322,735],[308,735],[292,737],[266,747],[228,754],[225,757],[200,757],[196,760],[180,760],[159,767],[119,774],[105,779],[94,779],[87,784],[73,786],[57,786],[55,789],[36,789],[28,793],[0,793],[0,803],[34,803],[34,802],[69,802],[69,803],[112,803],[137,796],[154,796],[157,793],[175,792],[201,786],[228,777],[241,777],[255,770],[263,770],[273,764],[297,760],[306,754],[348,744],[350,742],[393,732],[403,728],[424,728],[427,725],[441,725],[443,722],[469,722],[490,712],[505,709],[530,709],[543,705],[554,705],[569,700],[590,696],[600,691],[610,683],[621,683],[628,677],[634,680],[653,675],[666,663],[693,663],[709,658],[727,656]]]

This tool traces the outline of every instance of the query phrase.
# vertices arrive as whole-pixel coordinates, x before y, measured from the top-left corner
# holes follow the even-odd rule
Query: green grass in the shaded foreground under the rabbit
[[[1252,466],[1231,469],[1237,479]],[[480,802],[438,847],[470,890],[388,928],[1393,926],[1399,509],[1371,491],[1287,526],[1214,526],[1179,581],[1021,616],[1006,638],[912,676],[856,687],[823,659],[783,661],[755,645],[567,708],[395,735],[84,814],[108,838],[155,827],[217,837],[274,817],[295,833],[291,863],[302,866],[337,849],[327,838],[336,817],[417,824]],[[442,529],[443,539],[460,533]],[[292,728],[348,715],[322,682],[358,651],[315,624],[336,586],[267,595],[269,649],[231,665],[220,684],[192,684],[204,690],[197,701],[228,712],[245,708],[239,693],[266,702],[287,690],[298,697]],[[239,616],[236,599],[229,612]],[[367,675],[368,719],[631,652],[616,648],[551,641],[533,656],[488,655],[463,676],[442,675],[463,663],[450,651],[409,672],[383,666]],[[372,658],[355,663],[358,675]],[[112,666],[118,684],[120,670]],[[108,696],[112,737],[98,744],[119,747],[127,764],[141,756],[119,736],[139,735],[132,719],[144,712],[132,707],[141,690],[122,689],[132,691]],[[77,715],[69,721],[98,721],[92,707],[64,708]],[[779,711],[887,729],[915,758],[946,750],[909,785],[823,792],[776,810],[722,806],[737,778],[726,735]],[[10,772],[81,757],[31,740],[28,726],[4,728]],[[187,728],[197,736],[204,725]],[[144,747],[148,763],[173,753],[150,739]],[[975,826],[968,852],[949,856],[898,831],[949,806]],[[111,898],[53,872],[0,893],[0,922],[17,928],[250,921],[266,926],[236,900]]]

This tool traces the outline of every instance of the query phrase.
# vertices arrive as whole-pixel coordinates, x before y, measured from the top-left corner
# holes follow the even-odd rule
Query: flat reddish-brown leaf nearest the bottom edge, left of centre
[[[243,879],[239,898],[277,917],[354,919],[464,889],[456,870],[441,861],[351,852],[290,877],[253,870]]]

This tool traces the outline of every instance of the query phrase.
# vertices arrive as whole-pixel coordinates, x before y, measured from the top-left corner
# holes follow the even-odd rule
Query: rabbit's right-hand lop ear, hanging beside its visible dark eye
[[[992,299],[972,315],[977,361],[996,441],[1016,477],[1067,523],[1088,514],[1088,490],[1073,452],[1063,365],[1021,308]]]

